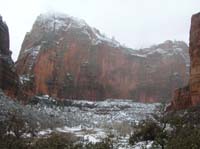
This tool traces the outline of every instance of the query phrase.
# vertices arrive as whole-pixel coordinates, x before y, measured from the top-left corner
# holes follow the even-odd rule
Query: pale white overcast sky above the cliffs
[[[168,39],[188,43],[191,15],[200,11],[200,0],[0,0],[0,4],[14,60],[40,13],[58,11],[84,19],[128,47],[144,48]]]

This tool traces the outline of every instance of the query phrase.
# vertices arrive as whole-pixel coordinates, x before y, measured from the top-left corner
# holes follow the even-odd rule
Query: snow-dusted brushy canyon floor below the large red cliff
[[[3,116],[6,118],[6,113],[14,109],[30,123],[37,121],[38,136],[46,136],[52,132],[72,133],[83,142],[92,143],[111,137],[114,148],[121,149],[151,146],[152,142],[139,142],[130,146],[129,137],[134,125],[152,117],[152,114],[158,114],[160,107],[159,103],[145,104],[126,99],[59,102],[47,95],[35,96],[29,104],[22,106],[6,99],[3,94],[1,98],[1,119]]]

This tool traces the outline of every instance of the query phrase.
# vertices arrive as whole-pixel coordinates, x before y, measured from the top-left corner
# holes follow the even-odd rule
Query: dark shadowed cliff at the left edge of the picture
[[[9,95],[16,96],[18,90],[18,76],[14,69],[9,50],[9,31],[0,16],[0,88]]]

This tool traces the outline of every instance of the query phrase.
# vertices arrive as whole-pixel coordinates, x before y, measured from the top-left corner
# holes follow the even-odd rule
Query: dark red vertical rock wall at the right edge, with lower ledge
[[[190,28],[189,85],[177,89],[169,109],[184,109],[200,103],[200,13],[192,16]]]

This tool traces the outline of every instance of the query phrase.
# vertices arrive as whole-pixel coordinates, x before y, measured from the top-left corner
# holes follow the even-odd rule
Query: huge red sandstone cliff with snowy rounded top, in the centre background
[[[135,51],[83,20],[43,14],[26,34],[16,68],[29,96],[155,102],[187,84],[187,51],[178,41]]]

